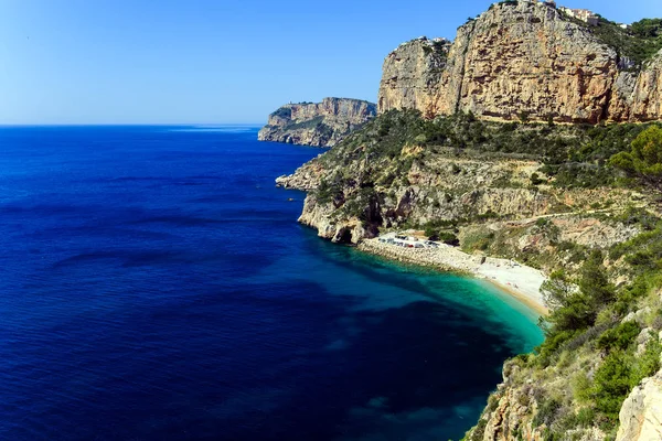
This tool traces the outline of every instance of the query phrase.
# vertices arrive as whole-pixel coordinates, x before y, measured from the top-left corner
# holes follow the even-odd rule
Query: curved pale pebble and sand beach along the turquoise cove
[[[404,248],[378,239],[366,239],[359,244],[359,249],[407,263],[459,271],[485,279],[540,314],[548,313],[541,293],[541,284],[546,277],[535,268],[508,259],[471,256],[444,244],[439,248]]]

